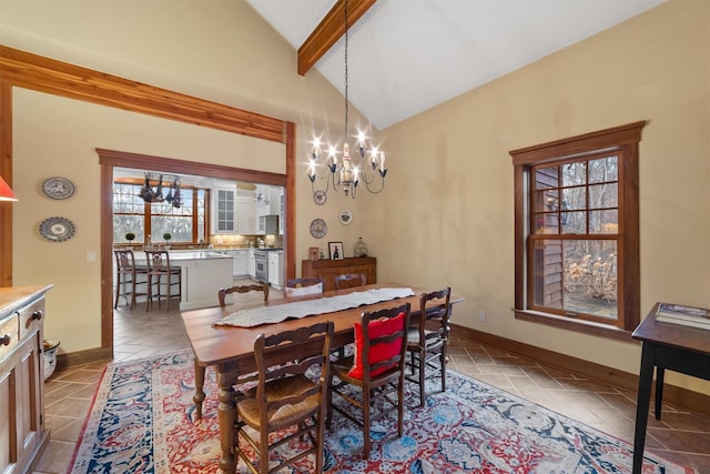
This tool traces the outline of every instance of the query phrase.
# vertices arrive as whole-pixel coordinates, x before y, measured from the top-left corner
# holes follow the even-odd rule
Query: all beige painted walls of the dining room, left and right
[[[211,9],[168,0],[0,0],[0,42],[292,120],[298,162],[305,162],[308,128],[327,122],[328,129],[342,130],[342,97],[314,71],[296,75],[293,49],[243,1],[209,4]],[[166,11],[170,22],[164,21]],[[362,235],[378,258],[381,281],[450,284],[466,299],[455,311],[459,324],[637,372],[636,344],[514,319],[508,151],[649,120],[641,141],[641,311],[659,300],[710,306],[709,31],[710,3],[671,0],[396,124],[382,133],[390,174],[385,192],[376,196],[362,194],[352,202],[328,194],[328,202],[316,206],[305,167],[300,167],[296,261],[321,243],[310,236],[308,223],[324,218],[328,234],[323,243],[343,241],[349,255]],[[261,149],[246,139],[187,131],[187,125],[101,107],[74,107],[27,91],[14,95],[16,160],[23,161],[13,177],[21,199],[13,204],[16,283],[55,283],[49,296],[55,316],[48,320],[48,335],[62,339],[68,352],[94,347],[100,342],[99,269],[84,263],[85,252],[99,246],[98,159],[92,149],[205,162],[229,161],[236,150],[261,154]],[[113,127],[91,123],[97,121]],[[136,130],[155,133],[133,137]],[[40,139],[44,143],[36,143]],[[78,183],[75,198],[48,202],[40,195],[39,183],[55,174]],[[342,209],[353,211],[352,225],[337,222]],[[77,238],[44,243],[37,225],[49,215],[79,220]],[[61,252],[55,252],[59,245]],[[74,262],[80,262],[75,270],[68,265]],[[478,322],[481,310],[485,323]],[[669,382],[710,393],[708,384],[673,375]]]

